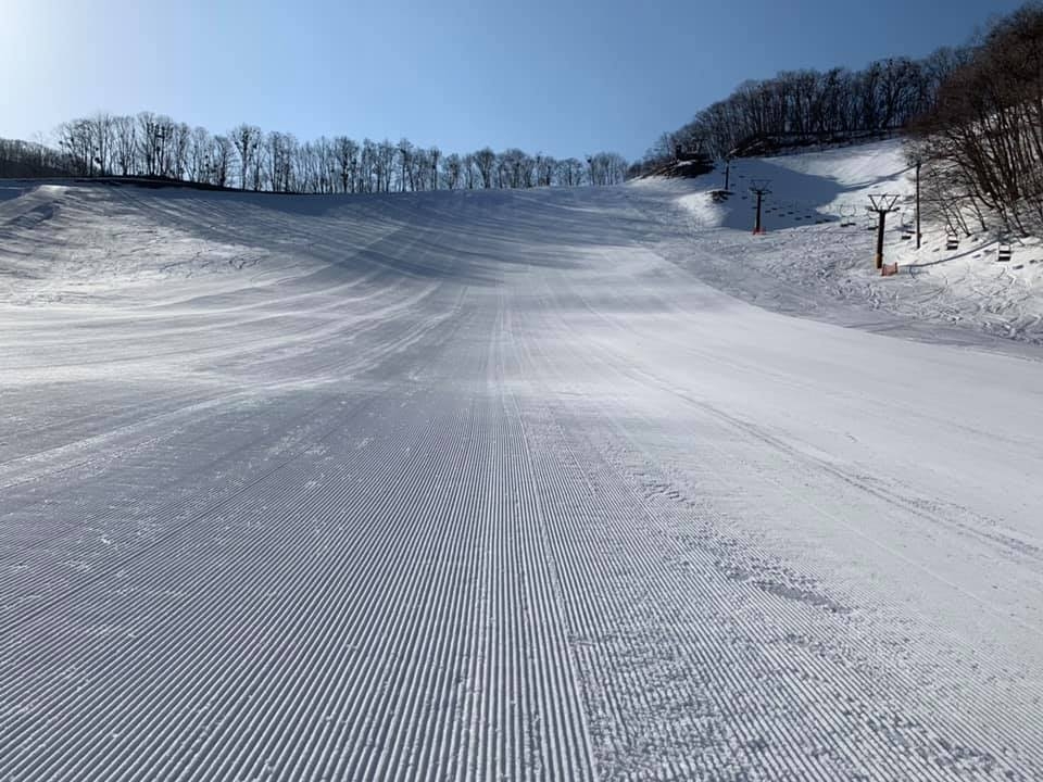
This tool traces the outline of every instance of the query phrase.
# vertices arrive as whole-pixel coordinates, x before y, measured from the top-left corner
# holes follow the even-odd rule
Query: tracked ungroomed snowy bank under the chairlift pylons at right
[[[980,333],[1043,342],[1043,245],[1014,242],[1007,263],[997,261],[998,239],[983,232],[960,237],[946,249],[944,225],[925,223],[915,241],[915,179],[901,140],[737,160],[732,195],[715,201],[724,171],[694,180],[642,180],[637,191],[665,201],[664,222],[688,236],[662,251],[718,288],[763,306],[789,313],[893,328],[881,313],[919,321],[930,339],[934,324],[967,326]],[[767,234],[753,237],[752,179],[769,179],[764,202]],[[887,263],[899,275],[875,268],[876,216],[866,211],[870,193],[900,195],[888,216]],[[842,225],[853,223],[853,225]],[[688,244],[686,247],[686,244]],[[909,329],[906,327],[906,331]],[[973,340],[962,330],[948,339]]]

